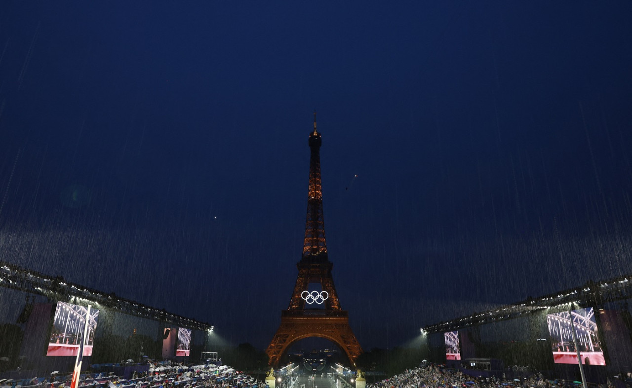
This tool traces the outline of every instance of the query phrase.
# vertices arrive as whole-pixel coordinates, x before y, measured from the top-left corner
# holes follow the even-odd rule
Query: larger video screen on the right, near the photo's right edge
[[[592,307],[547,315],[553,360],[561,364],[577,364],[573,327],[581,363],[605,365],[604,352],[597,336],[597,321]]]

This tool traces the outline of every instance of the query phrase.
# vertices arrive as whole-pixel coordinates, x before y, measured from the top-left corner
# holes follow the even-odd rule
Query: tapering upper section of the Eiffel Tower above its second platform
[[[314,112],[314,130],[308,141],[310,146],[310,183],[307,196],[307,221],[305,222],[305,242],[301,261],[328,261],[325,242],[325,221],[322,212],[322,182],[320,181],[320,144],[322,139],[316,129]]]

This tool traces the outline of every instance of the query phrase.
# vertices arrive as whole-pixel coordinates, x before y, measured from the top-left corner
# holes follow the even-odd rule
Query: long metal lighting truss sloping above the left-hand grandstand
[[[34,295],[42,295],[51,300],[59,300],[61,302],[70,302],[73,297],[80,298],[85,300],[86,303],[99,303],[118,312],[158,320],[179,327],[197,330],[213,329],[213,326],[207,322],[171,314],[164,309],[155,309],[133,300],[117,297],[114,293],[103,293],[93,288],[66,281],[61,276],[48,276],[6,261],[0,261],[0,286],[25,291]]]

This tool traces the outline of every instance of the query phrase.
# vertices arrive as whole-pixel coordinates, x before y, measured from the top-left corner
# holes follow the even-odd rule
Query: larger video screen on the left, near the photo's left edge
[[[86,319],[88,320],[88,333],[85,336],[83,355],[92,355],[94,344],[94,332],[97,329],[99,310],[90,308],[90,316],[87,317],[88,308],[73,305],[66,302],[57,302],[55,317],[52,320],[51,337],[48,341],[47,356],[76,356],[83,338]]]

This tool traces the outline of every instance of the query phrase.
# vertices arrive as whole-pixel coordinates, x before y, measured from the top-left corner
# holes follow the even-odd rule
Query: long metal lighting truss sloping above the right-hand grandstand
[[[540,298],[527,298],[512,305],[506,305],[495,310],[475,313],[466,317],[439,322],[423,327],[422,332],[446,332],[478,326],[498,320],[514,319],[528,314],[541,312],[544,309],[575,305],[581,307],[602,307],[607,302],[617,302],[632,298],[632,274],[619,276],[602,282],[589,281],[585,286],[544,295]],[[568,308],[567,306],[567,308]],[[576,321],[576,324],[580,324]]]

